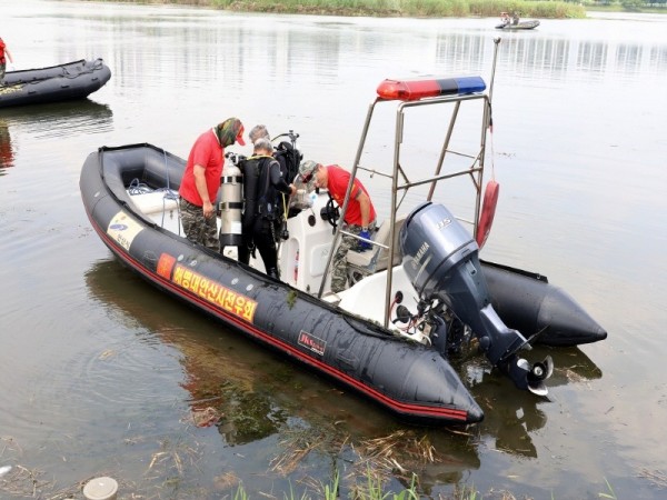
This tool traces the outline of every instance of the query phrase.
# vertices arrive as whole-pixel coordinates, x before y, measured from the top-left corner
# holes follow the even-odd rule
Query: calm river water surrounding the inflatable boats
[[[347,497],[367,464],[387,491],[417,473],[430,498],[665,498],[667,17],[501,33],[501,191],[481,256],[548,276],[609,337],[539,350],[557,368],[548,400],[470,380],[486,419],[462,431],[401,424],[159,294],[92,232],[78,180],[100,146],[187,157],[228,116],[293,129],[307,158],[349,166],[377,84],[488,78],[496,19],[6,3],[16,69],[100,57],[112,78],[88,100],[0,110],[1,498],[82,498],[97,476],[123,499],[230,498],[239,484],[318,498],[334,470]]]

